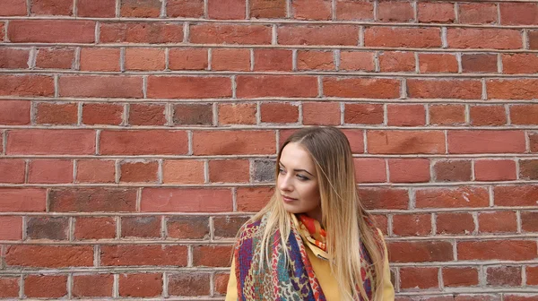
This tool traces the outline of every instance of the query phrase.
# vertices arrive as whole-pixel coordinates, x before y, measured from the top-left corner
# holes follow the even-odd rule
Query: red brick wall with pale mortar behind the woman
[[[222,299],[337,125],[398,300],[538,300],[536,2],[2,0],[0,42],[0,297]]]

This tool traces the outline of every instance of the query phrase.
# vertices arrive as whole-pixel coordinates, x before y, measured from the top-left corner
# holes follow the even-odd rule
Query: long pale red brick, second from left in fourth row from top
[[[140,76],[65,75],[58,85],[63,97],[143,98]]]

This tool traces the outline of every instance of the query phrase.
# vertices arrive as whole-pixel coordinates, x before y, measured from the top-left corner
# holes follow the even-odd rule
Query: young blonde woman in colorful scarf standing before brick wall
[[[383,235],[354,172],[340,130],[292,134],[273,197],[239,230],[226,300],[394,300]]]

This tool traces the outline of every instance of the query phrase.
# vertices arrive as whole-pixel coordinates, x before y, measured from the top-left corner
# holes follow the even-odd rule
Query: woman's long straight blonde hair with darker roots
[[[372,282],[372,300],[381,296],[384,272],[384,254],[374,234],[376,228],[369,226],[366,219],[369,213],[360,203],[355,182],[355,170],[351,156],[350,143],[344,133],[334,127],[308,127],[293,133],[279,150],[275,176],[278,177],[278,162],[282,149],[291,142],[299,143],[308,151],[316,166],[319,194],[321,198],[322,224],[326,231],[326,251],[330,255],[331,271],[342,292],[343,299],[357,300],[361,296],[369,300],[360,275],[360,244],[364,244],[374,265],[375,279]],[[261,219],[271,212],[267,219],[262,238],[262,252],[259,266],[266,266],[270,255],[269,238],[276,229],[281,234],[282,249],[291,232],[291,216],[284,210],[282,195],[275,189],[273,196],[264,209],[251,221]]]

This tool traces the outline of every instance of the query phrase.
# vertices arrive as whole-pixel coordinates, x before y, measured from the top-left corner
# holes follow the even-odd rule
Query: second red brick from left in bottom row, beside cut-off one
[[[24,277],[25,297],[67,296],[66,275],[28,275]]]

